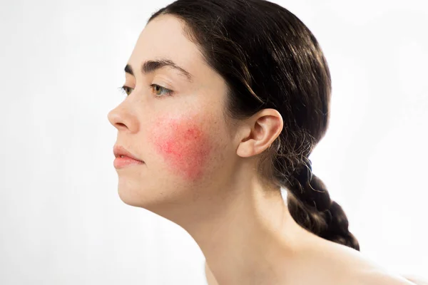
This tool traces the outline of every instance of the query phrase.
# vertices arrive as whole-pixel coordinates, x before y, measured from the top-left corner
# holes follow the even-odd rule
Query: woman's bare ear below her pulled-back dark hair
[[[243,135],[236,153],[240,157],[258,155],[272,145],[282,127],[282,116],[277,110],[260,110],[243,126]]]

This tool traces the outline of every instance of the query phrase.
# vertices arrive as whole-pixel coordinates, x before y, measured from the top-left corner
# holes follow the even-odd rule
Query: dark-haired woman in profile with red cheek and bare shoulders
[[[128,96],[108,114],[119,196],[183,227],[208,284],[413,284],[362,257],[312,174],[330,73],[290,11],[175,1],[151,16],[125,71]]]

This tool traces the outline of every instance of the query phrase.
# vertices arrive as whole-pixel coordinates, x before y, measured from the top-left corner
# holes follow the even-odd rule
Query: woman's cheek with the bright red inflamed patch
[[[148,133],[148,140],[168,170],[185,180],[203,177],[212,151],[210,139],[200,125],[190,118],[160,118]]]

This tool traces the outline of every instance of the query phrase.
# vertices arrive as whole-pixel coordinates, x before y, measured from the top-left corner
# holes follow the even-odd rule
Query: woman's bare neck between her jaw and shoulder
[[[191,222],[174,222],[198,243],[218,284],[279,284],[311,234],[292,219],[280,189],[255,180],[240,191],[226,189],[227,196],[211,197]]]

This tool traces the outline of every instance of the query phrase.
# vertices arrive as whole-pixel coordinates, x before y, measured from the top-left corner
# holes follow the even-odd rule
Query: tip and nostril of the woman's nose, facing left
[[[131,110],[126,108],[123,101],[116,108],[108,112],[107,118],[108,121],[118,130],[126,130],[131,133],[138,132],[138,118]]]

